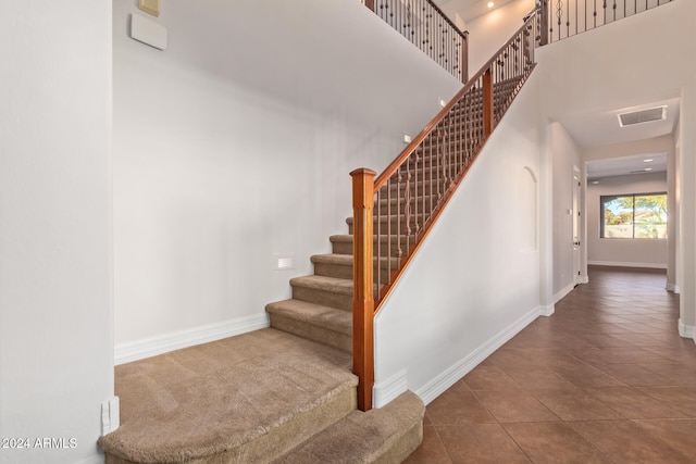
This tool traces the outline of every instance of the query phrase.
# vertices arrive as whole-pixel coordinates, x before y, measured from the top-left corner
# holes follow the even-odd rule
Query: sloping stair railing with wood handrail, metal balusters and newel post
[[[533,13],[514,36],[375,178],[353,181],[353,372],[360,409],[372,406],[373,319],[534,68]]]

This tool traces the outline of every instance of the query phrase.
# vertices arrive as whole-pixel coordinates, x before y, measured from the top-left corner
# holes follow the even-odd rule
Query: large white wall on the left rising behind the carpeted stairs
[[[164,2],[165,51],[127,37],[136,3],[113,2],[117,351],[265,324],[347,233],[349,172],[461,86],[355,0]]]

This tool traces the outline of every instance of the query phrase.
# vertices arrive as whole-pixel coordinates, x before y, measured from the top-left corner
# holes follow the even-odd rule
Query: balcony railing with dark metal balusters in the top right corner
[[[537,43],[558,41],[605,24],[669,3],[672,0],[537,0],[540,29]],[[693,0],[692,0],[693,1]]]

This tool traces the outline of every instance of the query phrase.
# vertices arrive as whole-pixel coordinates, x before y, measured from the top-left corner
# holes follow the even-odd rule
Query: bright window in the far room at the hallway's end
[[[600,238],[667,238],[667,193],[602,196]]]

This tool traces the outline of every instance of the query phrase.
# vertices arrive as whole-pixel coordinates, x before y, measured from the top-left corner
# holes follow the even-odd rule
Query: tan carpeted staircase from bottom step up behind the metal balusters
[[[523,51],[525,34],[506,53]],[[524,58],[514,65],[523,75],[481,72],[377,189],[375,235],[368,239],[377,252],[369,261],[372,281],[360,287],[371,288],[375,301],[448,201],[531,64]],[[375,410],[371,398],[361,403],[372,384],[356,367],[353,347],[371,351],[355,336],[357,236],[353,217],[346,223],[346,235],[330,237],[332,253],[311,258],[314,274],[290,279],[291,299],[266,305],[270,328],[116,366],[121,427],[99,440],[105,462],[399,463],[414,451],[423,437],[418,396],[406,391]]]

